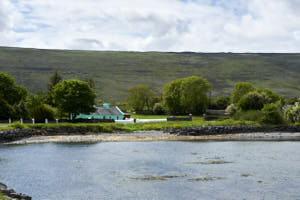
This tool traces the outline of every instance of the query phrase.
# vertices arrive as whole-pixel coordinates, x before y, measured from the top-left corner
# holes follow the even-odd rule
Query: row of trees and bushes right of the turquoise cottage
[[[300,122],[300,99],[285,99],[268,88],[256,88],[249,82],[235,84],[230,95],[211,98],[211,84],[191,76],[167,83],[161,94],[150,86],[137,85],[129,90],[127,106],[137,113],[186,115],[205,113],[206,109],[225,110],[236,120],[264,124]],[[284,105],[289,105],[284,108]]]

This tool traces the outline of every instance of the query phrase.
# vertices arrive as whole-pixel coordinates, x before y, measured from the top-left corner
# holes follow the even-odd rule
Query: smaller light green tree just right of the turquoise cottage
[[[153,90],[147,85],[136,85],[130,88],[126,97],[127,105],[135,111],[151,110],[154,98]]]

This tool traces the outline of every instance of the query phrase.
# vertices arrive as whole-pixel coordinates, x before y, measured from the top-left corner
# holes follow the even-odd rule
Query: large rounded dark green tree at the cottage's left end
[[[87,82],[70,79],[56,84],[53,100],[60,112],[78,115],[95,111],[96,94]]]

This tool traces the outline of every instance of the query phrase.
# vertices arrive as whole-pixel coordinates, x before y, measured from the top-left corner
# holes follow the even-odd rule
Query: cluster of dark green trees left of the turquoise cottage
[[[17,85],[6,73],[0,72],[0,120],[32,119],[36,122],[68,118],[71,114],[89,113],[95,110],[94,82],[77,79],[63,80],[55,72],[49,80],[47,92],[33,94]]]

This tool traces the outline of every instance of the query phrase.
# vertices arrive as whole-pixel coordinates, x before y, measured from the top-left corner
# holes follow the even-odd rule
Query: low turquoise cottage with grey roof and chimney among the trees
[[[110,106],[108,103],[96,107],[96,111],[90,114],[79,114],[75,119],[114,119],[123,120],[124,113],[118,106]]]

